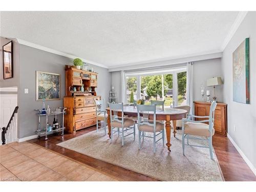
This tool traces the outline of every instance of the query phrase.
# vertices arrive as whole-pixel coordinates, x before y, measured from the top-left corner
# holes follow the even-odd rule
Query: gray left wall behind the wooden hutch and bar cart
[[[61,75],[61,100],[46,101],[46,106],[63,106],[65,96],[65,65],[72,65],[73,60],[60,55],[19,45],[19,133],[18,138],[35,134],[37,129],[37,116],[34,109],[40,109],[42,102],[36,101],[36,71],[57,73]],[[92,66],[99,73],[97,95],[107,99],[110,91],[111,75],[107,69]],[[29,89],[29,94],[24,94],[24,89]],[[61,118],[59,118],[61,120]],[[52,119],[49,123],[52,124]],[[45,122],[45,121],[44,121]]]

